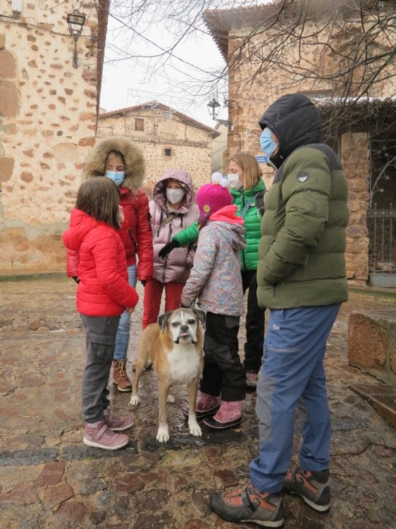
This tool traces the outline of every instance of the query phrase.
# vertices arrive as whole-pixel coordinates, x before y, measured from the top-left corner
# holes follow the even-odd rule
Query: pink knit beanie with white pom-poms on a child
[[[199,207],[199,229],[202,229],[212,213],[233,202],[228,190],[228,180],[221,173],[212,174],[212,183],[206,183],[197,191],[195,200]]]

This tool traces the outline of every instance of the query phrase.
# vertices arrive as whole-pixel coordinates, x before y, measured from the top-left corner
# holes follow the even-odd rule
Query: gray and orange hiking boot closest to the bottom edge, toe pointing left
[[[230,522],[254,522],[261,527],[280,527],[284,521],[281,492],[259,492],[251,482],[245,487],[212,494],[211,508]]]

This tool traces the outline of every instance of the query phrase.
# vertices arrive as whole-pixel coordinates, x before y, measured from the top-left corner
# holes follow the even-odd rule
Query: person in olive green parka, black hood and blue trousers
[[[321,142],[321,119],[302,94],[283,95],[259,121],[261,149],[278,168],[264,199],[257,296],[270,310],[257,383],[259,456],[247,485],[211,497],[233,522],[280,527],[282,491],[318,513],[330,508],[326,341],[348,298],[347,178]],[[302,442],[290,468],[298,410]]]

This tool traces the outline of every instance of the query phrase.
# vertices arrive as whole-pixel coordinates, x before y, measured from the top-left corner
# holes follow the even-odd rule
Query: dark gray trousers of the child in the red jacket
[[[85,316],[87,362],[82,379],[82,415],[85,422],[97,422],[109,407],[109,375],[116,346],[119,316]]]

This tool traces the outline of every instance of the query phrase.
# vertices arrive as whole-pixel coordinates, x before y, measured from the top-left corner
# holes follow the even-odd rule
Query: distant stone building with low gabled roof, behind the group
[[[220,133],[156,101],[99,114],[97,136],[125,135],[147,162],[145,190],[171,167],[189,171],[195,188],[211,176],[212,140]]]

